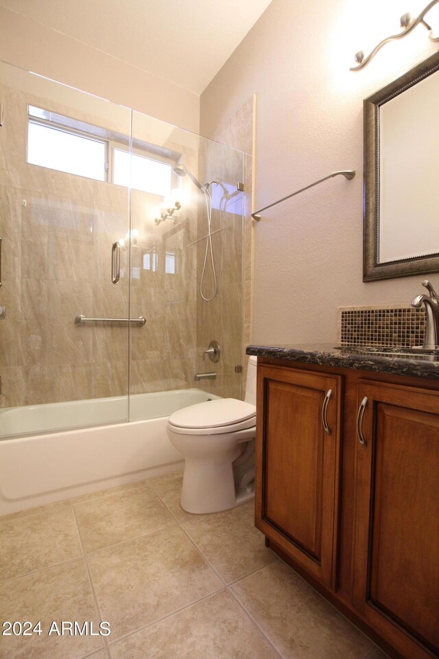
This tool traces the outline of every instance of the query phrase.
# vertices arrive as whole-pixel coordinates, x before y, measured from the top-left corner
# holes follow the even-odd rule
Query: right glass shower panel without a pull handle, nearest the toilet
[[[150,162],[132,180],[131,311],[146,317],[130,335],[134,420],[241,396],[244,155],[136,112],[132,147]]]

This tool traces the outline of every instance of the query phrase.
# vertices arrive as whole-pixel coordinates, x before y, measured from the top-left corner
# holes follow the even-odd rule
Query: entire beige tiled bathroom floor
[[[265,548],[252,502],[190,515],[181,480],[0,518],[1,621],[41,629],[0,636],[0,658],[385,659]],[[89,633],[62,635],[61,621]]]

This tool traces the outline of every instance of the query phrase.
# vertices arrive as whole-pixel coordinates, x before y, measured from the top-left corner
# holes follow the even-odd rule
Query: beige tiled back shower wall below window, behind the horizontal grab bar
[[[128,190],[27,164],[28,103],[130,134],[129,111],[126,122],[119,117],[119,122],[103,124],[102,117],[80,116],[77,108],[3,88],[0,235],[6,319],[0,323],[0,406],[124,395],[127,327],[78,326],[74,318],[128,317],[126,249],[121,280],[117,286],[110,281],[112,242],[121,240],[129,227]],[[190,160],[190,154],[184,156]],[[192,159],[196,161],[196,154]],[[187,205],[178,238],[169,238],[169,225],[155,227],[150,213],[146,218],[145,209],[158,200],[142,192],[132,195],[133,227],[139,229],[131,255],[137,268],[132,317],[147,319],[145,327],[131,329],[132,393],[192,386],[195,369],[193,257],[183,255],[173,278],[142,270],[142,259],[145,244],[151,242],[160,251],[169,240],[177,240],[184,252],[196,230],[196,207]]]

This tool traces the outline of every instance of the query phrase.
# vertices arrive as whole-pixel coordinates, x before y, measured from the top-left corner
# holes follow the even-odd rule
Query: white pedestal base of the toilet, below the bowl
[[[202,468],[200,468],[202,467]],[[188,513],[218,513],[254,498],[254,483],[236,492],[230,459],[205,461],[186,459],[180,505]]]

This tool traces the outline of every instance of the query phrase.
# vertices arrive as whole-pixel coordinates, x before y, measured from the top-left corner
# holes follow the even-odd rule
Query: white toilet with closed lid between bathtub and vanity
[[[171,414],[167,435],[185,457],[181,507],[215,513],[254,496],[257,357],[250,357],[245,401],[218,398]]]

